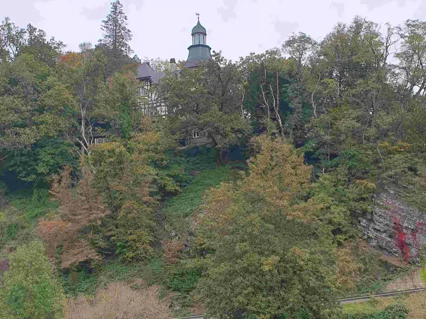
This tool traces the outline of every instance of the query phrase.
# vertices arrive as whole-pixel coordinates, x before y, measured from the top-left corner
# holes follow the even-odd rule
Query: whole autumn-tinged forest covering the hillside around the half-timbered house
[[[418,318],[335,300],[413,267],[389,271],[357,218],[385,189],[426,207],[426,22],[355,17],[179,76],[152,59],[161,118],[111,5],[78,52],[0,24],[0,318]],[[195,127],[207,144],[182,150]]]

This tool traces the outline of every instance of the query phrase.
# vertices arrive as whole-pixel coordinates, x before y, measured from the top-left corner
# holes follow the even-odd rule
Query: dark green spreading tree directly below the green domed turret
[[[241,89],[237,65],[219,52],[204,61],[203,68],[182,68],[179,77],[162,78],[158,94],[167,101],[168,112],[173,115],[166,118],[171,131],[188,139],[193,129],[203,132],[220,161],[222,150],[241,144],[251,132],[240,107]]]

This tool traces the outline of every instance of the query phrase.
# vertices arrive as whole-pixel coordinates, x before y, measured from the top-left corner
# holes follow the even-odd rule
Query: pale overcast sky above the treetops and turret
[[[78,50],[95,44],[110,0],[0,0],[0,18],[28,23]],[[321,40],[355,15],[392,25],[426,19],[426,0],[122,0],[133,32],[130,46],[143,57],[186,60],[195,12],[207,29],[207,44],[232,60],[280,45],[292,32]]]

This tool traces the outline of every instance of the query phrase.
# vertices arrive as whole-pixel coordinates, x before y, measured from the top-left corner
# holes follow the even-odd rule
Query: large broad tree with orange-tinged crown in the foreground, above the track
[[[254,140],[249,175],[212,189],[198,215],[194,297],[215,315],[334,317],[336,264],[319,208],[301,201],[310,167],[280,139]],[[309,222],[308,222],[309,221]],[[282,283],[285,282],[285,285]]]

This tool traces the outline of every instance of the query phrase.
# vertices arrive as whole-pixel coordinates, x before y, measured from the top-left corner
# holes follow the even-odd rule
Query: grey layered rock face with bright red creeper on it
[[[390,190],[377,195],[374,202],[372,212],[358,219],[363,237],[385,254],[417,262],[419,249],[426,244],[426,213]]]

